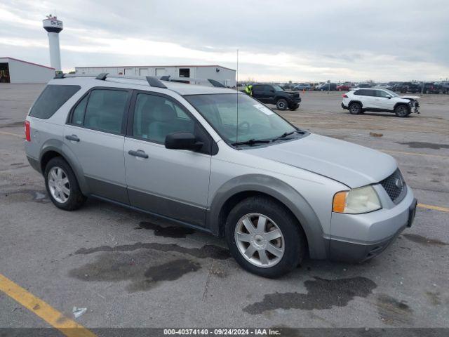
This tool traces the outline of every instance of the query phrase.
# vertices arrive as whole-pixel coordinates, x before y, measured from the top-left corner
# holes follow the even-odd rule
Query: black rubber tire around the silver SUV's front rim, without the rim
[[[260,213],[273,220],[283,235],[283,256],[272,267],[258,267],[250,263],[236,244],[234,233],[239,220],[250,213]],[[268,221],[268,220],[267,220]],[[250,197],[234,206],[227,216],[225,237],[229,251],[243,269],[262,277],[281,277],[295,269],[304,258],[306,239],[297,219],[279,202],[268,197]],[[269,244],[270,242],[268,242]],[[250,245],[250,244],[248,244]],[[257,251],[258,256],[258,251]]]

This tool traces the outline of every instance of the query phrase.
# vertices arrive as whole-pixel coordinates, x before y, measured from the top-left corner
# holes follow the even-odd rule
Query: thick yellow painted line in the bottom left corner
[[[0,291],[16,300],[29,311],[34,312],[45,322],[61,331],[67,337],[96,337],[94,333],[84,326],[62,315],[61,312],[48,305],[43,300],[29,293],[11,279],[0,274]]]

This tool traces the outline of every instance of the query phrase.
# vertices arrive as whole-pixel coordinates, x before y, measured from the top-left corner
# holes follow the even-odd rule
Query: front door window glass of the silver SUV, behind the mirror
[[[195,123],[180,105],[167,98],[139,93],[135,101],[133,136],[164,143],[168,133],[194,133]]]

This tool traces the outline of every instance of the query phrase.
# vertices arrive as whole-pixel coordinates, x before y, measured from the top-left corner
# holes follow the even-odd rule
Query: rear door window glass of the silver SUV
[[[102,89],[91,91],[83,125],[95,130],[120,133],[128,96],[128,91]]]

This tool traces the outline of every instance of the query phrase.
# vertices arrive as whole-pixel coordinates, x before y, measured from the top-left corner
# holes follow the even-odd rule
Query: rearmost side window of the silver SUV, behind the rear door
[[[29,116],[48,119],[71,98],[81,86],[48,85],[34,103]]]

